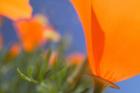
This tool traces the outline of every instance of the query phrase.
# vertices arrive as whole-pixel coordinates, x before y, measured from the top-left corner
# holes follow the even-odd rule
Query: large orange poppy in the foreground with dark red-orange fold
[[[140,1],[71,0],[94,75],[118,82],[140,73]]]

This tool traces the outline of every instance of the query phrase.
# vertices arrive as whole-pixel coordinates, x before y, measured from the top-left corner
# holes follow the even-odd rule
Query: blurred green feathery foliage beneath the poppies
[[[8,49],[1,50],[0,93],[93,93],[86,60],[68,64],[66,47],[63,42],[57,46],[58,56],[53,64],[49,62],[52,48],[22,51],[16,57]]]

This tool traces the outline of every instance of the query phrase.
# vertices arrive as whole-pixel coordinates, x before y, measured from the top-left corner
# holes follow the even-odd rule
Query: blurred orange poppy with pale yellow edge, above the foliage
[[[43,18],[43,17],[42,17]],[[41,17],[35,16],[29,20],[19,20],[15,23],[17,33],[25,51],[32,51],[46,40],[58,40],[57,34]]]

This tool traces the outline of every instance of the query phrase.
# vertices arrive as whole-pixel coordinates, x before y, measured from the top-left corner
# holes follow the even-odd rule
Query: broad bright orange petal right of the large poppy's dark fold
[[[105,34],[100,74],[118,82],[140,73],[140,1],[92,0]]]

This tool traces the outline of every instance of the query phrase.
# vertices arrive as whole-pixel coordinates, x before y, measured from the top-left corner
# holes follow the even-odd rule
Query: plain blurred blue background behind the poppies
[[[34,14],[43,14],[48,17],[53,28],[60,32],[62,36],[71,36],[71,45],[67,53],[81,52],[86,54],[84,34],[76,12],[69,0],[31,0]],[[16,31],[12,22],[4,18],[4,23],[0,27],[0,32],[4,37],[4,46],[9,47],[18,41]],[[107,93],[139,93],[140,76],[117,83],[120,90],[108,89]]]

